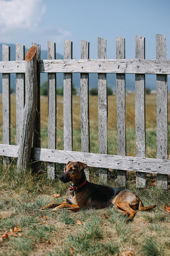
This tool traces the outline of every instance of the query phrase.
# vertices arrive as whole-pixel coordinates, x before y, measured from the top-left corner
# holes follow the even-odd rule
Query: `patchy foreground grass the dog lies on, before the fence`
[[[62,172],[59,165],[58,174]],[[97,175],[97,169],[92,168],[90,179],[99,184]],[[45,169],[37,175],[26,172],[22,179],[16,165],[4,168],[1,164],[0,232],[10,232],[15,226],[22,231],[21,236],[9,235],[0,242],[0,255],[121,255],[126,250],[139,256],[169,255],[170,215],[164,210],[170,195],[149,182],[145,189],[137,189],[133,179],[134,174],[128,173],[127,188],[145,206],[157,204],[149,212],[138,211],[133,220],[112,207],[77,213],[66,209],[42,211],[39,206],[64,201],[68,184],[48,180]],[[114,186],[115,181],[109,179],[108,185]],[[54,198],[54,193],[62,197]],[[77,220],[82,225],[77,225]]]

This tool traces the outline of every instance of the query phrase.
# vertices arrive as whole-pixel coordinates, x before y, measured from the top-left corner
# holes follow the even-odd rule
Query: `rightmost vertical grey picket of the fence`
[[[166,38],[156,34],[156,59],[166,59]],[[156,75],[157,158],[168,158],[167,75]],[[168,176],[157,175],[157,186],[167,189]]]

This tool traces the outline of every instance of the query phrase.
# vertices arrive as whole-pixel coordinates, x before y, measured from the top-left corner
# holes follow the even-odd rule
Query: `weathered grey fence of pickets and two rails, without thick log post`
[[[156,60],[145,59],[145,39],[140,36],[135,38],[135,59],[125,59],[125,40],[120,37],[116,37],[116,59],[106,59],[106,40],[102,38],[98,38],[98,59],[89,59],[89,43],[85,41],[81,41],[81,59],[72,59],[72,42],[70,41],[65,41],[63,60],[55,59],[55,43],[48,41],[48,60],[40,60],[40,45],[33,43],[33,46],[37,47],[37,75],[33,74],[36,76],[37,84],[37,116],[33,118],[36,121],[33,124],[31,151],[35,170],[40,168],[40,161],[47,161],[48,178],[55,179],[55,162],[82,161],[89,166],[101,168],[99,176],[103,183],[107,182],[108,168],[111,168],[118,170],[119,186],[125,186],[126,171],[132,170],[136,172],[136,187],[145,187],[145,173],[152,173],[157,176],[157,186],[167,189],[170,174],[169,160],[167,160],[167,74],[170,74],[170,60],[166,60],[165,36],[156,35]],[[26,111],[26,107],[24,109],[25,91],[27,101],[27,90],[29,90],[27,83],[31,74],[26,71],[27,61],[24,57],[24,46],[16,44],[16,61],[10,61],[10,47],[3,45],[3,61],[0,62],[0,72],[3,73],[3,144],[0,144],[0,155],[5,156],[5,163],[9,163],[9,157],[18,157],[19,152],[21,153],[22,129],[24,124],[27,125],[27,120],[23,122],[24,111]],[[56,149],[57,72],[64,73],[64,150]],[[18,145],[10,145],[10,73],[16,73]],[[40,73],[48,73],[48,148],[41,148],[40,141]],[[82,152],[72,151],[72,73],[80,73]],[[89,73],[98,73],[98,154],[89,152]],[[116,73],[117,155],[107,154],[107,73]],[[135,74],[136,157],[126,156],[126,73]],[[156,159],[146,158],[145,74],[156,74]],[[86,175],[88,178],[88,171]]]

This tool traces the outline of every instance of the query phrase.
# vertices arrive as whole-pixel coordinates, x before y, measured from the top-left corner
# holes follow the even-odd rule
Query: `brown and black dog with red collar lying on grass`
[[[136,214],[135,210],[146,211],[156,207],[156,205],[144,207],[141,200],[130,190],[88,182],[84,173],[86,167],[86,163],[69,161],[66,164],[65,173],[60,177],[63,183],[70,182],[66,201],[40,207],[40,209],[55,207],[53,209],[55,211],[66,207],[77,211],[88,207],[99,209],[114,206],[119,212],[132,218]]]

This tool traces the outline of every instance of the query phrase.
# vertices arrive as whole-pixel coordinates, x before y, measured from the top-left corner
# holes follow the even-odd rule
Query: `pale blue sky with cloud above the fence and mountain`
[[[116,58],[115,37],[125,38],[125,57],[135,58],[135,35],[145,37],[145,58],[156,58],[155,35],[166,36],[170,59],[169,0],[0,0],[0,43],[32,42],[47,50],[56,43],[64,54],[64,40],[73,42],[73,58],[80,58],[81,40],[90,42],[90,58],[97,58],[97,38],[107,40],[107,58]]]

